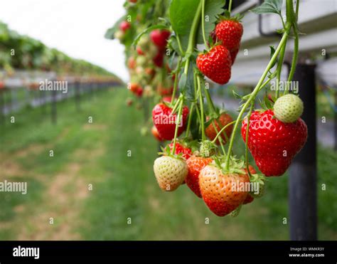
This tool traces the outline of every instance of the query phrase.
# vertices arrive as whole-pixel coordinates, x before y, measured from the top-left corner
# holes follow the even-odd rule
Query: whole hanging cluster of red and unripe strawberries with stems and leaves
[[[134,57],[129,57],[136,69],[137,60],[146,52],[151,53],[146,62],[156,64],[154,58],[160,51],[168,61],[167,66],[163,64],[157,85],[165,83],[164,74],[169,76],[173,84],[171,97],[162,98],[152,110],[151,132],[159,141],[170,141],[154,161],[156,180],[164,191],[186,184],[217,216],[237,216],[242,205],[264,194],[266,177],[281,176],[287,171],[306,142],[306,124],[300,118],[304,106],[299,96],[289,90],[280,95],[277,90],[273,97],[264,97],[261,109],[255,109],[257,94],[267,90],[271,80],[280,81],[290,34],[294,35],[295,48],[287,83],[293,78],[298,53],[298,6],[295,12],[292,0],[286,1],[287,21],[282,22],[281,41],[272,48],[267,68],[252,93],[235,93],[242,104],[236,120],[232,120],[225,109],[213,104],[208,81],[220,85],[229,82],[240,49],[242,17],[230,15],[232,1],[228,10],[223,9],[223,0],[172,0],[166,4],[167,19],[144,28],[133,41],[136,48],[130,53]],[[265,2],[252,11],[282,17],[281,7],[282,1],[272,7]],[[144,39],[149,41],[144,44]],[[157,50],[150,52],[153,44]],[[204,51],[198,51],[200,45]],[[236,157],[233,149],[240,126],[245,157]],[[248,150],[259,173],[249,162]]]

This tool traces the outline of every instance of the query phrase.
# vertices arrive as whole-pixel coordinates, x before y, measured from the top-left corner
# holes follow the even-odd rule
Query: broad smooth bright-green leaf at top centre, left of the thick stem
[[[172,0],[170,4],[169,18],[171,26],[173,31],[178,34],[184,51],[188,46],[188,36],[199,3],[200,0]]]

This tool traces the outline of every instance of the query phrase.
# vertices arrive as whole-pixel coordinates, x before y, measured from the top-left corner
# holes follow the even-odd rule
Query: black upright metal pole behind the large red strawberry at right
[[[299,63],[294,80],[304,102],[302,119],[308,127],[308,140],[289,170],[289,216],[292,241],[317,240],[316,182],[316,65]]]

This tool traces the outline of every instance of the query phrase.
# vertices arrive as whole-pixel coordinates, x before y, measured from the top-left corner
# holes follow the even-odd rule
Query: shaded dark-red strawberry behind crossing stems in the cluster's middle
[[[207,120],[209,120],[209,117],[207,117]],[[219,125],[219,122],[220,122],[220,125]],[[208,127],[206,127],[206,129],[205,129],[206,136],[210,140],[215,139],[215,137],[218,134],[218,132],[220,132],[220,130],[223,127],[225,127],[225,125],[228,125],[230,122],[232,122],[232,117],[230,117],[230,115],[228,115],[227,113],[223,112],[220,115],[220,117],[218,118],[218,120],[214,120],[214,124],[215,124],[216,130],[215,130],[214,126],[213,126],[213,123],[210,123],[210,125],[208,125]],[[227,128],[225,128],[225,131],[223,133],[221,133],[221,137],[223,138],[223,143],[224,144],[227,142],[226,135],[227,135],[227,138],[229,139],[230,138],[230,134],[232,134],[232,130],[233,130],[233,126],[230,125]],[[216,140],[216,144],[220,144],[219,139]]]

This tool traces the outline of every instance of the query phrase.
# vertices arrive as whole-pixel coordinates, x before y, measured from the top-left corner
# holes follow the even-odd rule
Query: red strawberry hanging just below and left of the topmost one
[[[196,63],[200,72],[213,82],[224,85],[230,80],[232,60],[227,48],[219,45],[211,48],[208,53],[200,53]]]

